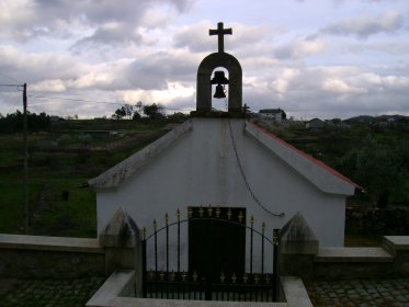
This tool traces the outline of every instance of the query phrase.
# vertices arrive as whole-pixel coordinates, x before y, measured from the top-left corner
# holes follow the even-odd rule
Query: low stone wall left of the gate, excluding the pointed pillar
[[[96,239],[0,235],[0,277],[83,275],[105,275],[105,253]]]

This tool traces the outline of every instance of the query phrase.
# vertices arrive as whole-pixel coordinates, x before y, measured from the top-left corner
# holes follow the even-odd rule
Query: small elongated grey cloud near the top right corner
[[[356,16],[341,20],[323,29],[321,33],[332,35],[356,35],[367,38],[378,33],[394,33],[404,25],[404,18],[398,12],[386,12],[379,18]]]

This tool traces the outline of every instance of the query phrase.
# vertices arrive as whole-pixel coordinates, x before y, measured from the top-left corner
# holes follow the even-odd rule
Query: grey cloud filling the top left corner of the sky
[[[18,8],[24,9],[24,14],[3,24],[7,31],[1,33],[1,35],[19,41],[32,39],[38,36],[61,37],[67,36],[67,33],[78,37],[78,33],[88,27],[88,30],[95,29],[95,33],[82,39],[92,38],[94,43],[99,43],[101,41],[98,38],[104,36],[101,32],[105,24],[123,23],[128,31],[133,32],[138,26],[144,26],[143,16],[150,8],[155,8],[157,4],[168,4],[181,13],[190,8],[192,1],[124,0],[117,2],[102,0],[96,2],[33,0],[24,8]],[[10,14],[16,14],[16,12],[10,12]],[[64,30],[61,29],[61,23],[65,25]],[[127,42],[125,39],[125,43]]]

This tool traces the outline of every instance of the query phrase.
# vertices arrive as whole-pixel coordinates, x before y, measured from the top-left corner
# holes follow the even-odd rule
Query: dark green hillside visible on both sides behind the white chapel
[[[372,245],[378,242],[379,234],[387,235],[385,229],[394,235],[409,231],[406,221],[409,218],[409,129],[402,118],[394,120],[399,124],[391,125],[386,117],[360,116],[327,122],[316,129],[307,129],[300,122],[276,125],[252,121],[363,187],[348,200],[348,238],[355,240],[364,236],[364,241],[359,243]],[[47,129],[31,133],[30,234],[95,237],[95,194],[83,183],[184,120],[58,121]],[[3,145],[0,232],[23,234],[23,136],[3,133],[0,141]]]

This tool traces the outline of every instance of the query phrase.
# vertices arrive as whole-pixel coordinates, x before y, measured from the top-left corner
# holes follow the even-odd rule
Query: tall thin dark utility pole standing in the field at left
[[[23,86],[23,129],[24,129],[24,230],[29,234],[29,143],[27,143],[27,84]]]

